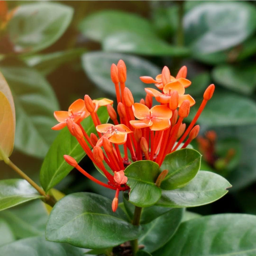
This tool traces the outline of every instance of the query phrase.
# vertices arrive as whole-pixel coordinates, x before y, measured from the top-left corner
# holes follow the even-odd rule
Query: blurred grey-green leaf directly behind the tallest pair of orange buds
[[[117,64],[120,59],[124,60],[127,67],[126,87],[132,91],[134,100],[145,98],[144,88],[154,85],[142,83],[139,77],[145,75],[155,77],[161,73],[161,70],[151,62],[125,54],[93,52],[82,56],[82,65],[96,86],[116,97],[115,86],[110,77],[110,67],[112,63]]]

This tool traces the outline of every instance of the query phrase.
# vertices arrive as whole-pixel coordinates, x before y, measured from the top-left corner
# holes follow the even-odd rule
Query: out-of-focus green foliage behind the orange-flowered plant
[[[35,181],[57,135],[51,130],[53,112],[66,110],[85,94],[115,99],[113,62],[125,61],[126,85],[137,101],[145,97],[139,76],[155,77],[163,66],[176,75],[186,65],[192,81],[186,92],[197,103],[210,83],[216,85],[198,120],[201,136],[193,143],[203,154],[201,169],[219,173],[233,185],[221,200],[191,210],[256,213],[253,1],[7,1],[7,6],[8,12],[1,2],[0,71],[16,109],[11,159]],[[82,162],[100,176],[86,157]],[[1,179],[17,177],[2,162],[0,170]],[[94,191],[113,197],[76,171],[57,188],[65,194]],[[43,234],[47,213],[38,210],[41,206],[34,201],[3,211],[4,239]]]

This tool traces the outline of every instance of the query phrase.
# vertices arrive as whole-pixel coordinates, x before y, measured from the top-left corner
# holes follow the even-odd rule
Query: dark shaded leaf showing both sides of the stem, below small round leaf
[[[124,196],[123,203],[124,203],[124,207],[127,212],[127,215],[129,216],[130,220],[132,220],[135,206],[132,203],[130,203],[127,199],[126,199],[126,196]],[[141,210],[140,224],[150,223],[157,217],[171,210],[172,210],[171,208],[161,207],[156,205],[152,205],[150,207],[144,207]]]

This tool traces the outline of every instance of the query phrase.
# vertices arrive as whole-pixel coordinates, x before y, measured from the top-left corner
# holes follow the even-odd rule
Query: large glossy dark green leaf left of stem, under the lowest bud
[[[92,193],[74,193],[55,204],[46,226],[46,239],[84,248],[108,248],[138,238],[140,227],[113,212],[112,201]]]

